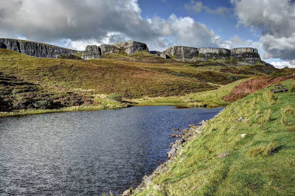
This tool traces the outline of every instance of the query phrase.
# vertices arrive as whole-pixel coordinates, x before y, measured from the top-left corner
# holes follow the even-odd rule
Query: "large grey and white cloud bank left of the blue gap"
[[[201,1],[190,3],[195,11],[198,6],[218,14],[226,11],[209,10]],[[142,19],[141,12],[137,0],[5,0],[0,8],[0,37],[23,37],[77,50],[85,49],[86,45],[129,40],[160,51],[173,45],[231,49],[248,43],[237,36],[222,40],[190,16],[171,14],[168,19],[159,16]]]

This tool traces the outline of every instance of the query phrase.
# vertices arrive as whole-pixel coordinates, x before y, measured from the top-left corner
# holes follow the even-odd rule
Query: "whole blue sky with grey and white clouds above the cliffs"
[[[252,47],[295,68],[295,0],[0,0],[0,38],[76,50],[129,40],[150,51]]]

